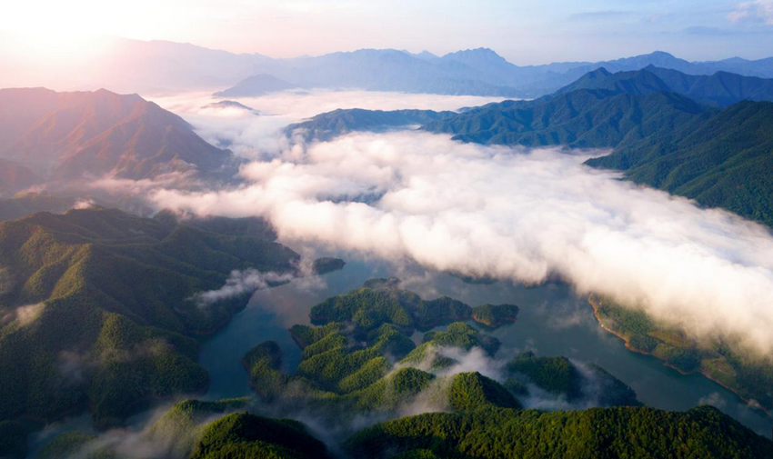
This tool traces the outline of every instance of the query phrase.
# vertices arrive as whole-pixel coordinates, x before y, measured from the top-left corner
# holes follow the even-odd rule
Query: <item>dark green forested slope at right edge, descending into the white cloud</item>
[[[731,105],[587,165],[773,226],[773,103]]]

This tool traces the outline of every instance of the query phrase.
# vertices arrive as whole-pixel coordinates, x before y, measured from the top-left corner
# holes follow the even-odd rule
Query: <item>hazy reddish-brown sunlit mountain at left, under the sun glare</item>
[[[182,118],[139,95],[2,89],[0,106],[0,156],[55,179],[216,177],[235,170],[230,152],[207,144]]]

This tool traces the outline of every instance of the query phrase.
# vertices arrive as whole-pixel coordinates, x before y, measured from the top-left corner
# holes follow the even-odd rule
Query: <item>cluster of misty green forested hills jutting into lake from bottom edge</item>
[[[256,398],[180,402],[137,433],[136,441],[150,445],[153,455],[148,457],[180,459],[773,454],[773,442],[716,408],[681,413],[643,406],[626,384],[596,365],[530,352],[499,361],[496,338],[450,316],[417,345],[410,338],[415,329],[404,321],[412,315],[386,307],[384,298],[426,302],[419,297],[422,303],[417,303],[416,294],[386,281],[368,281],[362,289],[323,302],[326,314],[332,314],[330,304],[340,306],[332,308],[336,321],[323,320],[312,308],[316,324],[291,328],[302,349],[294,374],[281,371],[278,344],[257,344],[242,360]],[[374,295],[373,289],[386,296]],[[487,363],[480,370],[491,371],[467,367],[469,356],[474,363]],[[531,397],[577,403],[587,400],[589,392],[600,393],[593,404],[604,407],[526,408]],[[79,453],[86,459],[125,459],[122,447],[94,435],[64,433],[41,458]]]

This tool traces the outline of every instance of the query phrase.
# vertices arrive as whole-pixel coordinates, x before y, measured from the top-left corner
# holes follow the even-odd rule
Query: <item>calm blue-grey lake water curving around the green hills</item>
[[[515,324],[487,332],[502,342],[497,357],[532,350],[538,355],[565,355],[580,362],[596,363],[630,385],[645,404],[668,410],[713,404],[758,433],[771,434],[773,420],[748,408],[719,384],[700,375],[679,374],[654,357],[627,351],[622,340],[597,325],[586,299],[577,297],[565,284],[471,285],[447,274],[397,269],[374,261],[350,261],[343,270],[321,278],[297,280],[256,292],[246,309],[202,346],[200,362],[212,378],[206,398],[250,394],[240,360],[250,347],[265,340],[275,340],[282,346],[283,365],[292,372],[300,351],[287,328],[308,324],[309,309],[325,298],[359,287],[366,279],[389,275],[397,275],[404,281],[403,288],[424,298],[447,294],[473,306],[517,304],[520,312]]]

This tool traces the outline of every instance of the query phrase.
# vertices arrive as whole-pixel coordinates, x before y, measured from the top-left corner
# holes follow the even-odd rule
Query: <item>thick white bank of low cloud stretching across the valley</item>
[[[232,141],[256,147],[244,131]],[[773,349],[768,231],[582,164],[606,152],[470,145],[417,131],[256,151],[263,157],[240,173],[248,185],[156,188],[148,198],[196,215],[264,216],[289,244],[525,284],[557,277],[693,336]],[[362,195],[380,197],[351,201]]]

